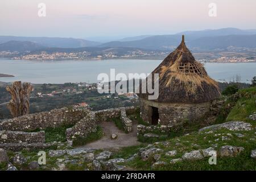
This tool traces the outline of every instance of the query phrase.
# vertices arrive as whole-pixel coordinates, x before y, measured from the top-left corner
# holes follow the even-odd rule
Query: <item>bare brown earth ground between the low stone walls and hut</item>
[[[133,132],[126,134],[124,131],[119,130],[114,122],[101,122],[100,126],[104,132],[104,137],[92,143],[88,143],[82,147],[90,147],[96,149],[115,148],[135,146],[140,144],[137,141],[137,123],[133,122]],[[111,135],[117,134],[117,139],[110,139]]]

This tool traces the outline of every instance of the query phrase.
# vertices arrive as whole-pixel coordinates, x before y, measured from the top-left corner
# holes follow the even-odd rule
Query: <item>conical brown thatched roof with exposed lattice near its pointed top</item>
[[[184,35],[179,47],[152,73],[159,73],[159,97],[155,101],[201,103],[220,96],[217,82],[185,46]],[[138,96],[147,99],[148,93]]]

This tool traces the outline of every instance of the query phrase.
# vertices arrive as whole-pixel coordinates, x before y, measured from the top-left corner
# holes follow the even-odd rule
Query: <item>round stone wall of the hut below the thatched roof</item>
[[[141,118],[147,123],[152,122],[152,106],[158,108],[160,125],[175,127],[184,122],[193,122],[209,113],[210,102],[201,104],[159,103],[140,98]]]

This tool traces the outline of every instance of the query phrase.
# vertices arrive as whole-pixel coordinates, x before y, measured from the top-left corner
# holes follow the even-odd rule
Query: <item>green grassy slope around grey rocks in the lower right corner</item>
[[[167,162],[167,166],[162,168],[158,168],[158,170],[256,170],[256,160],[250,157],[251,150],[256,149],[256,141],[250,140],[252,137],[255,136],[255,131],[229,131],[227,129],[221,129],[214,131],[212,134],[205,134],[203,133],[191,133],[189,135],[183,137],[176,137],[169,139],[169,145],[163,146],[162,143],[155,144],[155,147],[162,148],[164,152],[176,150],[176,156],[166,156],[164,154],[161,155],[160,160]],[[227,136],[226,134],[232,134],[230,140],[221,139],[215,141],[222,136]],[[241,133],[245,135],[243,138],[236,137],[235,133]],[[216,136],[215,134],[221,134],[220,136]],[[223,134],[223,135],[222,135]],[[211,142],[209,142],[211,141]],[[177,145],[177,143],[179,143]],[[199,146],[192,145],[197,144]],[[217,165],[209,165],[208,159],[205,158],[203,160],[197,161],[183,161],[177,164],[170,164],[171,159],[181,158],[181,156],[185,152],[189,152],[192,150],[199,150],[210,147],[212,144],[218,144],[216,150],[220,150],[221,146],[231,145],[231,146],[238,146],[244,147],[245,151],[242,151],[240,155],[232,158],[220,158],[217,157]],[[154,161],[147,160],[146,162],[142,161],[141,159],[137,158],[131,162],[124,163],[123,165],[129,166],[134,169],[142,169],[142,170],[151,170],[151,166]]]

